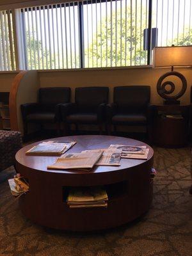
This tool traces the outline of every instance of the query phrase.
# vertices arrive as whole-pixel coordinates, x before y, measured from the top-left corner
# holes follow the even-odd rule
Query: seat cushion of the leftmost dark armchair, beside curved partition
[[[28,122],[54,122],[55,113],[38,112],[27,116]]]

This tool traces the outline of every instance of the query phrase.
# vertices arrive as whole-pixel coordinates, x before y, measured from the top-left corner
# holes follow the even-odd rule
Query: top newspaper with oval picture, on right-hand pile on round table
[[[109,148],[121,149],[122,153],[127,153],[127,154],[145,154],[146,146],[111,144]]]

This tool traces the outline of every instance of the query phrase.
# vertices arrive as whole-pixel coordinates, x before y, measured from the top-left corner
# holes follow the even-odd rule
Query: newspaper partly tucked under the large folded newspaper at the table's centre
[[[122,154],[122,149],[115,148],[104,148],[104,149],[94,149],[94,150],[84,150],[84,153],[89,154],[90,152],[102,152],[102,156],[99,161],[95,163],[97,166],[120,166],[120,159]]]

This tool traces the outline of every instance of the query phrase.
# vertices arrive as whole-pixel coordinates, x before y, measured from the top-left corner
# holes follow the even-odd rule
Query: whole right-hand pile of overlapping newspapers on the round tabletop
[[[132,146],[132,145],[110,145],[109,148],[114,150],[122,150],[122,158],[132,159],[147,159],[149,148],[146,146]]]

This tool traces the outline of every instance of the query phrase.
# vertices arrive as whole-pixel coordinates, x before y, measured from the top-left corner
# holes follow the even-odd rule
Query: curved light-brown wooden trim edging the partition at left
[[[12,131],[18,131],[17,120],[17,92],[19,90],[20,81],[28,71],[21,71],[13,79],[12,88],[10,90],[9,108],[10,108],[10,125]]]

